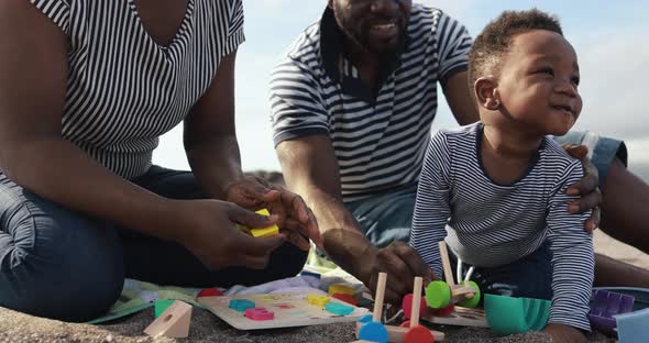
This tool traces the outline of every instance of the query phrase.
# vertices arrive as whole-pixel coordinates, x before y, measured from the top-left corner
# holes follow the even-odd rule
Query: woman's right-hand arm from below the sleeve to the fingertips
[[[234,60],[237,52],[221,59],[210,88],[185,120],[184,142],[189,165],[201,187],[215,199],[248,209],[266,207],[278,214],[278,225],[289,242],[302,250],[320,244],[314,213],[304,200],[280,187],[243,177],[234,129]]]

